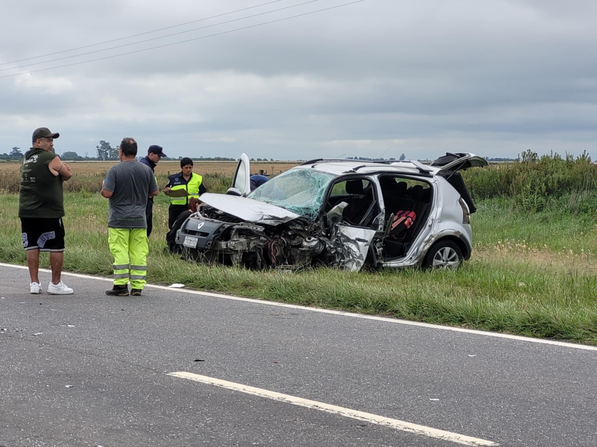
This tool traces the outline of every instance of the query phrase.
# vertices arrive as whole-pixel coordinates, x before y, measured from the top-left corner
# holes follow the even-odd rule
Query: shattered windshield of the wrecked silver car
[[[291,169],[264,183],[248,197],[315,220],[334,178],[333,174],[315,169]]]

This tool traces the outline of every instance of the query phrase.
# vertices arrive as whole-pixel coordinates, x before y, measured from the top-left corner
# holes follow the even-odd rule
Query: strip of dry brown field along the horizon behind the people
[[[79,175],[100,175],[117,162],[70,162],[73,173]],[[220,174],[231,177],[236,169],[236,162],[193,162],[193,171],[198,174]],[[278,175],[296,166],[298,162],[251,162],[251,173],[259,173],[263,169],[266,175]],[[0,174],[19,172],[20,163],[0,163]],[[179,172],[180,162],[159,162],[155,168],[158,175]]]

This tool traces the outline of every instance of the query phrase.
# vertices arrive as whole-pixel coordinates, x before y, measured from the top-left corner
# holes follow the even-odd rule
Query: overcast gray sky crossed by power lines
[[[268,0],[5,0],[0,64],[173,26]],[[446,151],[515,157],[531,149],[597,159],[597,1],[280,0],[76,55],[181,35],[0,76],[0,153],[33,129],[60,132],[57,153],[95,155],[133,136],[145,153],[310,159],[433,159]]]

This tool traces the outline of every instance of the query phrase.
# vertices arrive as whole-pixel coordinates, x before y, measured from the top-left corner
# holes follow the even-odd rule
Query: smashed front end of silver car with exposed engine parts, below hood
[[[204,205],[185,222],[179,243],[183,256],[223,265],[263,269],[334,264],[358,270],[369,246],[361,233],[368,231],[371,237],[375,233],[340,225],[324,228],[323,219],[310,222],[299,217],[276,224],[245,222]],[[351,240],[355,245],[349,256],[344,256],[344,247],[349,247]]]

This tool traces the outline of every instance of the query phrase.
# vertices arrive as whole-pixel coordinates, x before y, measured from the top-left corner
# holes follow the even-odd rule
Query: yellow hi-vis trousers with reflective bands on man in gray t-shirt
[[[108,228],[108,244],[114,256],[114,285],[142,289],[147,274],[147,229]]]

